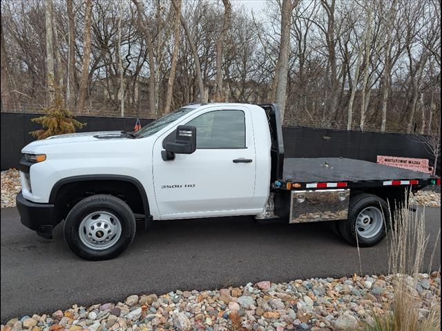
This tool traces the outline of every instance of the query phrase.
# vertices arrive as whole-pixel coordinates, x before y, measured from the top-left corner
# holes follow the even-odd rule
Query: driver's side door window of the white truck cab
[[[246,148],[246,126],[242,110],[206,112],[186,125],[196,128],[196,148]]]

